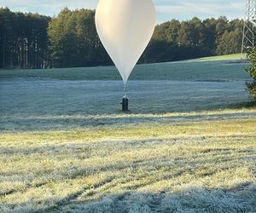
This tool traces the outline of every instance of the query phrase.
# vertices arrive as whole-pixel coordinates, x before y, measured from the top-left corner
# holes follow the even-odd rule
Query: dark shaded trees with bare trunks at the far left
[[[48,67],[49,21],[44,15],[0,8],[0,68]]]

